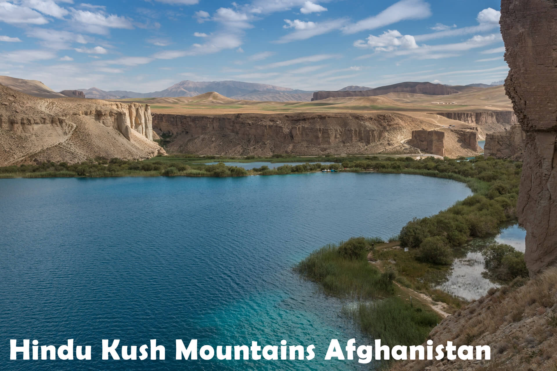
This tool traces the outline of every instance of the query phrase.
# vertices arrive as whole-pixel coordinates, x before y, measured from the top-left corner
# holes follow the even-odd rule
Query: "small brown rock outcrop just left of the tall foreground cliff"
[[[513,125],[509,130],[486,134],[486,144],[483,152],[486,156],[495,157],[496,159],[516,160],[522,159],[524,154],[524,146],[526,141],[526,133],[520,125]]]

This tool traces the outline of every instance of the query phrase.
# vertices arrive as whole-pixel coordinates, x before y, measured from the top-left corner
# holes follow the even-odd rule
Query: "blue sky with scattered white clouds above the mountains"
[[[494,0],[0,0],[0,75],[137,92],[491,83],[508,71],[499,11]]]

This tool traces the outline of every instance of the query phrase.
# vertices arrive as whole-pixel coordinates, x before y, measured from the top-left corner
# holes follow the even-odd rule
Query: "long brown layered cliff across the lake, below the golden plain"
[[[154,130],[172,136],[170,150],[226,155],[404,152],[408,147],[401,141],[423,126],[433,127],[399,114],[153,116]]]

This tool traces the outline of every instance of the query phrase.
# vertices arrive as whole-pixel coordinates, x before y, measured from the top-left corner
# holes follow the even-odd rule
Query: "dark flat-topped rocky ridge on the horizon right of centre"
[[[319,101],[326,98],[373,97],[393,92],[425,95],[449,95],[459,93],[458,90],[446,85],[433,84],[431,82],[401,82],[363,91],[317,91],[314,93],[312,101]]]

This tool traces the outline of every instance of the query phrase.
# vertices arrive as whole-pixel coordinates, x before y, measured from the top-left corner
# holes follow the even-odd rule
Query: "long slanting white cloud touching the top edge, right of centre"
[[[402,0],[394,3],[377,16],[365,18],[343,27],[343,32],[351,34],[366,29],[385,27],[406,19],[424,19],[429,16],[431,16],[431,9],[429,4],[423,0]]]

